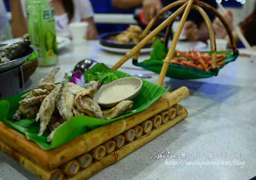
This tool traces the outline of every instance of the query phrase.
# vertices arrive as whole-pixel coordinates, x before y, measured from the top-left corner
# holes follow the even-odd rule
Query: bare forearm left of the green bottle
[[[12,12],[12,35],[14,38],[22,37],[28,33],[27,20],[24,17],[22,5],[19,0],[10,0],[10,8]]]

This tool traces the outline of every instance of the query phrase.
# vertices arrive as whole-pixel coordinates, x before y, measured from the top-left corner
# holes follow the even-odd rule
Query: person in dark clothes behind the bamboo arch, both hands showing
[[[144,10],[144,19],[149,22],[163,7],[174,3],[175,1],[176,0],[112,0],[112,5],[120,9],[141,5]],[[214,0],[202,0],[202,2],[217,8],[217,3]],[[178,7],[173,8],[172,10],[176,11],[177,9]],[[214,20],[215,15],[206,9],[204,10],[209,16],[210,20]],[[201,14],[193,9],[191,9],[187,17],[184,30],[184,36],[192,41],[206,41],[209,38],[208,30]]]

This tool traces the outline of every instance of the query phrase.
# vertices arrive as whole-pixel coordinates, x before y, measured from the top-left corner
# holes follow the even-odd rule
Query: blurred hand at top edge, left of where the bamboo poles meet
[[[142,5],[144,10],[143,17],[148,22],[153,19],[163,6],[160,0],[143,0]]]

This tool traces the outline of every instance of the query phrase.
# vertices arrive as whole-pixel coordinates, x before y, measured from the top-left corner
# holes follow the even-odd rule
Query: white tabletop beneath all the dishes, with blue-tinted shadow
[[[123,54],[105,52],[98,41],[80,46],[70,45],[60,51],[56,66],[60,82],[65,71],[73,69],[82,59],[91,58],[113,66]],[[186,50],[195,43],[179,42],[177,49]],[[148,58],[140,55],[139,61]],[[38,67],[25,83],[25,90],[53,67]],[[119,70],[152,75],[146,79],[157,82],[159,74],[125,62]],[[190,95],[180,104],[188,117],[168,131],[130,153],[89,179],[250,179],[256,175],[256,60],[239,57],[221,69],[218,76],[201,80],[165,78],[164,87],[175,90],[186,86]],[[177,159],[154,158],[178,155]],[[150,158],[152,157],[152,158]],[[0,151],[0,179],[38,179]]]

